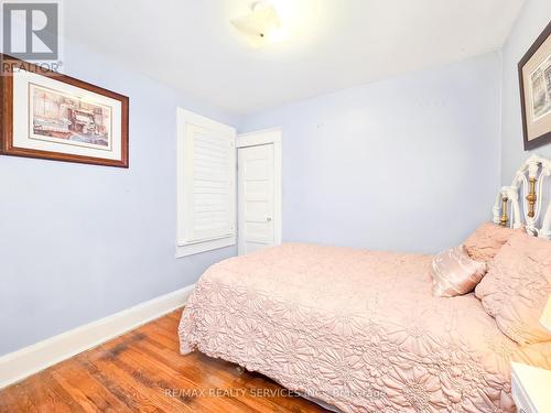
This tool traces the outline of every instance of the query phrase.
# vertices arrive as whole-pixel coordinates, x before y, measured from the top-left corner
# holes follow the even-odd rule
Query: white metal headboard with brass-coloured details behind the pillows
[[[504,186],[494,205],[494,222],[551,239],[551,161],[532,155]]]

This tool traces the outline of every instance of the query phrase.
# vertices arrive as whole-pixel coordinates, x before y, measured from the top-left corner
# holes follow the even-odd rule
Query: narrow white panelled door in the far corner
[[[281,242],[279,149],[279,142],[238,149],[239,254]]]

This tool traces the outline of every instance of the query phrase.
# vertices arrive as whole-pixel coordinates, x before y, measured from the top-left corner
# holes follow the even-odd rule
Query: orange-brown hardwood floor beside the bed
[[[181,356],[180,313],[0,390],[0,412],[325,411],[230,362],[197,351]]]

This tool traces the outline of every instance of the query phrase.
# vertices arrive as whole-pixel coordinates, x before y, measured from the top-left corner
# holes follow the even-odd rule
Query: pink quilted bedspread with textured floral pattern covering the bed
[[[213,265],[182,315],[194,349],[344,412],[509,412],[520,348],[472,294],[431,295],[431,257],[283,244]]]

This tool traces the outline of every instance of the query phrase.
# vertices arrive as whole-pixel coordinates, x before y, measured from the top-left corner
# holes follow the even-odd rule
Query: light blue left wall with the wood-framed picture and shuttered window
[[[68,42],[65,64],[130,97],[130,169],[0,156],[0,355],[192,284],[236,252],[174,258],[176,106],[238,119]]]

